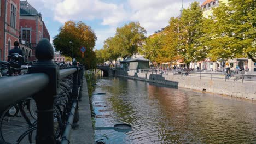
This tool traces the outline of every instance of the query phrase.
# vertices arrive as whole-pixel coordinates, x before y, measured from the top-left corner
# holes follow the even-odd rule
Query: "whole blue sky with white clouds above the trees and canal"
[[[102,49],[104,40],[113,37],[115,29],[131,21],[138,21],[147,30],[147,36],[168,25],[182,8],[193,0],[27,0],[42,13],[42,19],[51,36],[59,33],[66,21],[83,21],[96,33],[95,49]],[[200,4],[205,0],[197,0]]]

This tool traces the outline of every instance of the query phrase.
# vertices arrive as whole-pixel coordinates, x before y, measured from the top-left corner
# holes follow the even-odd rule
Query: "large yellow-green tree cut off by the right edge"
[[[256,62],[255,0],[230,0],[213,9],[209,56],[217,58],[249,57]]]

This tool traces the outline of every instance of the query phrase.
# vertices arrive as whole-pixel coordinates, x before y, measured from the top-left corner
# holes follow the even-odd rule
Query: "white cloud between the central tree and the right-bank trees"
[[[201,0],[202,1],[202,0]],[[183,3],[187,8],[192,0]],[[171,17],[177,17],[182,8],[182,1],[177,0],[128,0],[131,8],[131,21],[139,21],[148,35],[168,25]]]

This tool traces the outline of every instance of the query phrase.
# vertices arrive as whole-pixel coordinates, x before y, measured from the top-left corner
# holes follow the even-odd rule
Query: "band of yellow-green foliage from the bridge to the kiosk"
[[[97,50],[97,63],[104,61],[114,61],[118,57],[132,56],[138,52],[142,42],[146,39],[146,30],[140,26],[139,22],[130,22],[123,27],[117,28],[114,37],[109,37],[104,41],[102,50]]]

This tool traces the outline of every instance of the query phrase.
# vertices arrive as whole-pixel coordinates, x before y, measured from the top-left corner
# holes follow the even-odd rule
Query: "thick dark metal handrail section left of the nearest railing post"
[[[44,73],[3,77],[0,80],[0,111],[25,99],[47,86],[49,77]]]

